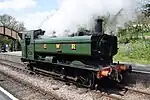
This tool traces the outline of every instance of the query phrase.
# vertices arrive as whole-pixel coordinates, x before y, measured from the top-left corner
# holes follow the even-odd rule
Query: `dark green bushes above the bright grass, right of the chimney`
[[[125,27],[120,28],[117,34],[119,43],[129,43],[138,40],[141,36],[144,39],[143,33],[150,32],[149,23],[150,19],[143,14],[139,14],[136,20],[125,23]]]

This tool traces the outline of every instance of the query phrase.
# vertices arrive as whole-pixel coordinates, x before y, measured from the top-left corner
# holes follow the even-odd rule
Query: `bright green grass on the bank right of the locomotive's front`
[[[114,61],[150,64],[150,32],[143,33],[145,40],[131,40],[128,44],[119,44]],[[139,36],[142,36],[139,34]],[[122,39],[122,38],[120,38]]]

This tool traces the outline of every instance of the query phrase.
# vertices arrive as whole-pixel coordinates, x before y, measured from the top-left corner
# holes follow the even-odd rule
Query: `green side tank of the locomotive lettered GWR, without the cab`
[[[47,45],[45,49],[43,46]],[[58,53],[56,44],[60,44],[61,53],[76,55],[91,55],[91,36],[61,37],[35,40],[36,52]],[[76,44],[76,50],[72,50],[71,45]]]

